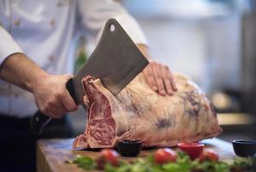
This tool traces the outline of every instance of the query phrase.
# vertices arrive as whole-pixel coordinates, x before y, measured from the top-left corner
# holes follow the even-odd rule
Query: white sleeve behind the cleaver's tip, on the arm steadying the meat
[[[115,18],[136,44],[147,45],[138,22],[115,0],[79,0],[78,11],[82,24],[93,38],[99,37],[109,18]]]

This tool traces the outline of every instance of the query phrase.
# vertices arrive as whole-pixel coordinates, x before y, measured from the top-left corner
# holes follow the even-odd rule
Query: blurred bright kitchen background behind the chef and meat
[[[209,96],[220,138],[256,138],[256,0],[121,0],[140,23],[153,58],[190,76]],[[93,50],[78,39],[77,67]],[[85,113],[69,115],[76,135]]]

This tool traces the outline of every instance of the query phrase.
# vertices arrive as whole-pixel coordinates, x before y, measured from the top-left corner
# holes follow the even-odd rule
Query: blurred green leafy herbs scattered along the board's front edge
[[[97,163],[91,157],[76,157],[71,162],[77,164],[79,168],[86,170],[97,169]],[[253,171],[252,158],[236,158],[233,163],[206,161],[199,163],[196,159],[190,160],[184,152],[178,151],[177,161],[175,163],[165,163],[159,165],[154,163],[153,155],[147,158],[137,158],[133,162],[120,161],[118,167],[110,163],[105,164],[106,172],[247,172]]]

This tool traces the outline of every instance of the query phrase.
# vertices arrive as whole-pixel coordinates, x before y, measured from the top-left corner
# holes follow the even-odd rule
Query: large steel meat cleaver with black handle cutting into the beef
[[[109,19],[103,28],[97,47],[91,53],[87,63],[83,64],[75,76],[66,83],[66,89],[76,104],[84,107],[82,79],[85,76],[100,78],[103,86],[113,95],[117,95],[147,64],[147,58],[143,56],[122,26],[115,19]],[[47,115],[37,111],[30,121],[32,131],[41,134],[50,120],[51,118]]]

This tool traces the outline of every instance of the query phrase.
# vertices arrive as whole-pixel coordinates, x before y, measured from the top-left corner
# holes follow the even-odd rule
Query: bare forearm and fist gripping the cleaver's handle
[[[66,89],[71,77],[49,75],[23,53],[10,55],[0,65],[0,78],[31,92],[41,112],[52,118],[78,109]]]

